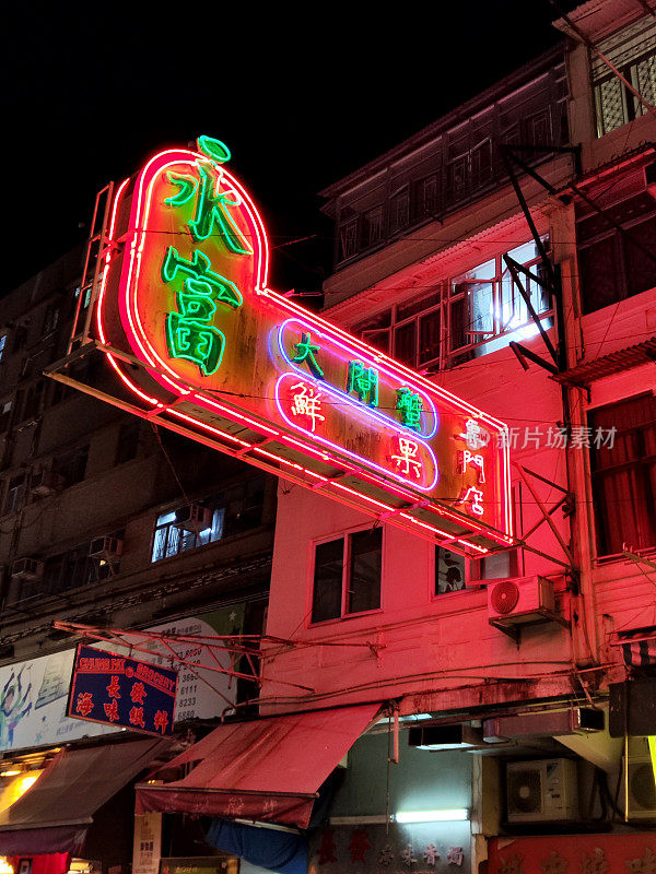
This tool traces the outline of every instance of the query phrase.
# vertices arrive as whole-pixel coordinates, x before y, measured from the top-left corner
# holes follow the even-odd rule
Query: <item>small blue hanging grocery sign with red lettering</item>
[[[167,736],[176,689],[176,671],[80,645],[67,716]]]

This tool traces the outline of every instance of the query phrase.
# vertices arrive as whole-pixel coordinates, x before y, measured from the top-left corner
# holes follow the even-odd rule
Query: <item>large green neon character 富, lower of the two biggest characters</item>
[[[166,316],[166,345],[172,358],[194,362],[203,376],[213,374],[223,357],[225,335],[208,322],[216,311],[207,282],[186,280],[176,295],[179,312]]]

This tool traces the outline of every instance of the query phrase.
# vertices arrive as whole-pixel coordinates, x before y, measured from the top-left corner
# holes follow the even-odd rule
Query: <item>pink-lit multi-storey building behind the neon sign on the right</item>
[[[490,853],[490,871],[509,871],[519,837],[595,820],[642,858],[653,838],[632,820],[656,816],[656,795],[621,790],[646,747],[608,718],[609,686],[648,673],[656,625],[656,21],[609,0],[555,26],[558,49],[323,192],[325,317],[507,423],[515,547],[464,559],[284,479],[278,492],[267,633],[295,643],[267,645],[263,712],[379,702],[389,720],[355,761],[376,732],[399,764],[383,751],[372,775],[423,755],[419,810],[460,806],[444,777],[459,761],[472,871]],[[526,268],[524,296],[505,256]],[[547,760],[574,776],[549,789]],[[342,870],[356,860],[340,829],[395,813],[385,792],[367,806],[349,789],[356,768],[332,817]],[[570,800],[551,810],[549,792]],[[330,874],[325,855],[311,864]]]

